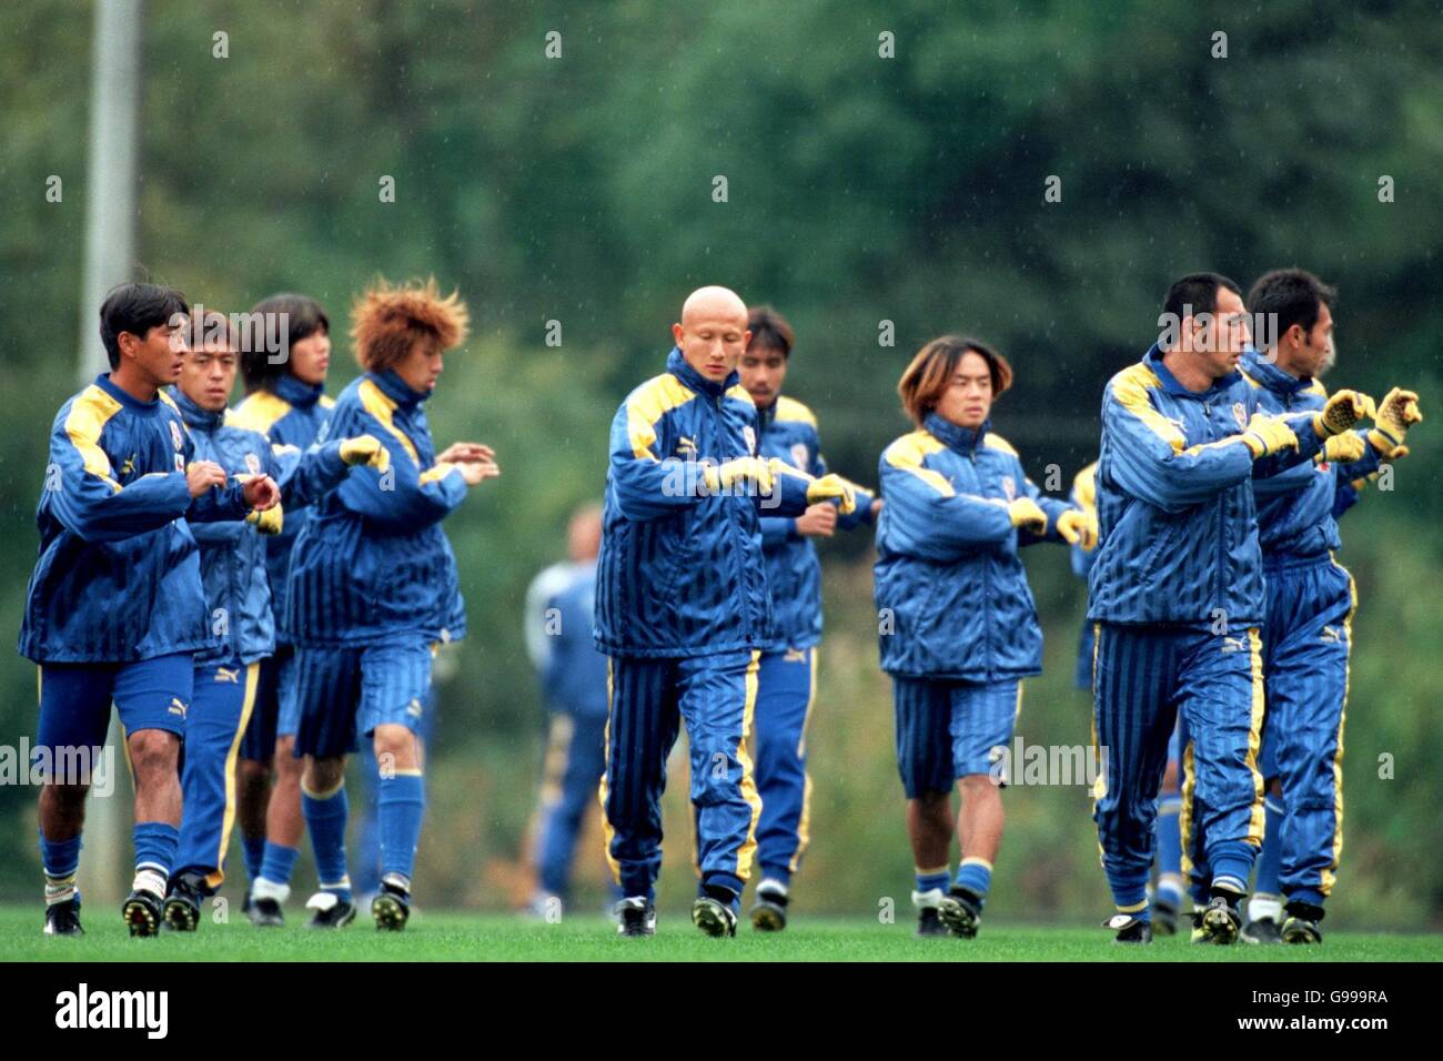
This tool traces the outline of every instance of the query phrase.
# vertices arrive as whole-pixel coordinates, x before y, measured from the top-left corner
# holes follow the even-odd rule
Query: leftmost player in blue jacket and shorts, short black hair
[[[100,309],[110,371],[55,417],[36,508],[40,554],[26,592],[20,654],[40,665],[36,755],[45,933],[81,934],[75,889],[88,771],[114,702],[136,785],[136,876],[123,915],[154,935],[180,826],[180,739],[192,652],[211,644],[189,521],[241,520],[276,504],[274,481],[244,484],[192,460],[189,432],[162,388],[180,374],[185,296],[121,284]],[[81,764],[84,765],[84,762]]]

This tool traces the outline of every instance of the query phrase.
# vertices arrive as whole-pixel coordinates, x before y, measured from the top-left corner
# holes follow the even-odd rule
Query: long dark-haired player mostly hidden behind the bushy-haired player
[[[304,294],[273,294],[251,309],[261,325],[241,352],[245,400],[235,423],[266,435],[273,446],[299,455],[310,447],[335,401],[325,394],[330,367],[330,318]],[[273,329],[286,328],[284,349],[270,349]],[[309,508],[293,510],[266,543],[276,651],[261,661],[255,706],[241,742],[238,804],[245,872],[251,888],[245,912],[257,927],[284,924],[290,873],[306,823],[300,814],[300,759],[296,758],[296,638],[286,615],[290,553]],[[274,774],[276,787],[271,788]]]

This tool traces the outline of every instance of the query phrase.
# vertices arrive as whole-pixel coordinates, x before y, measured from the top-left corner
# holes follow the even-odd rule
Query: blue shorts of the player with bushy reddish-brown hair
[[[431,657],[429,641],[299,648],[296,755],[348,755],[358,736],[384,725],[418,732],[430,703]]]

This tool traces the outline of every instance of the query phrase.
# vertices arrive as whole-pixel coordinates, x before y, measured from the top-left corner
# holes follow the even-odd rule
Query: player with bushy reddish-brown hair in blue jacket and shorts
[[[440,527],[470,486],[499,475],[489,446],[457,442],[434,453],[426,400],[446,351],[466,338],[466,305],[436,280],[381,281],[356,300],[351,338],[364,370],[336,400],[317,442],[374,435],[385,472],[352,468],[302,528],[290,563],[289,626],[296,637],[302,810],[320,891],[310,927],[355,920],[346,875],[346,756],[364,736],[381,767],[377,827],[378,930],[400,931],[411,911],[411,872],[424,785],[416,738],[434,647],[465,634],[456,557]]]

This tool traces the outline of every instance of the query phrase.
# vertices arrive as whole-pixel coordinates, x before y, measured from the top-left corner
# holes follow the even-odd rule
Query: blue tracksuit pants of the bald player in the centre
[[[756,852],[762,801],[746,751],[760,652],[612,657],[606,723],[608,860],[628,896],[654,898],[661,869],[667,756],[685,722],[701,883],[740,894]]]

